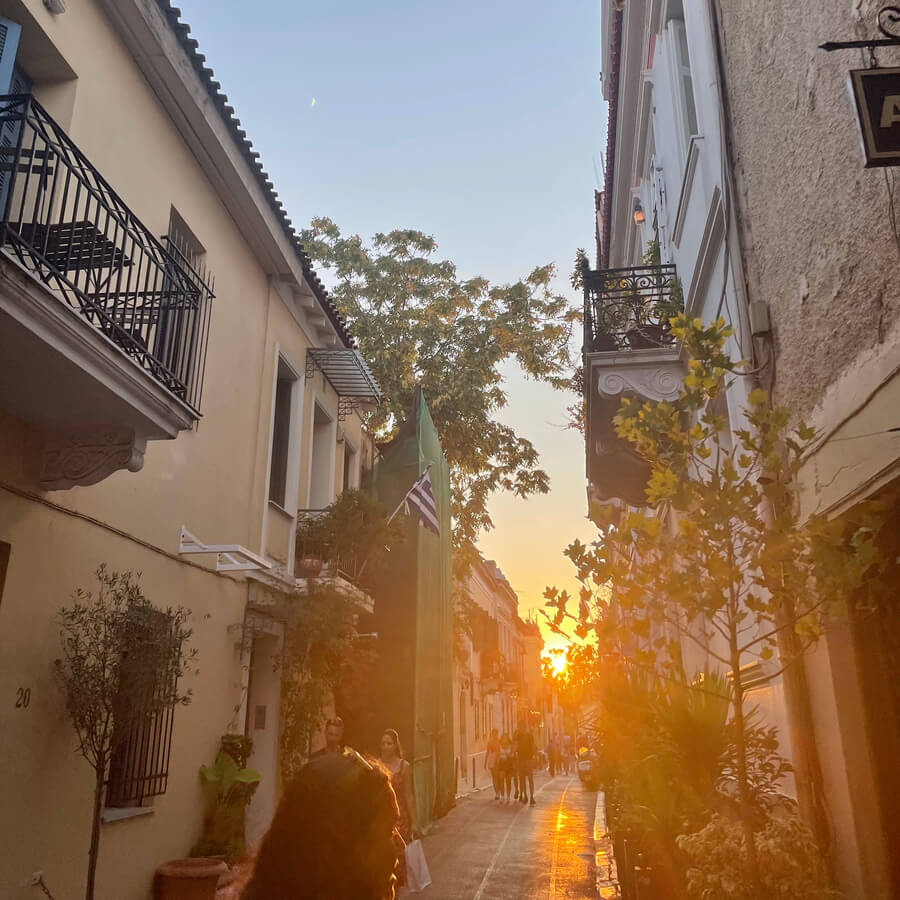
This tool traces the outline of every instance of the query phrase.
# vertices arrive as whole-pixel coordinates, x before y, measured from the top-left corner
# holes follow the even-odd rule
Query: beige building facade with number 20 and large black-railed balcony
[[[298,519],[359,485],[379,392],[167,2],[3,0],[0,28],[0,896],[83,887],[55,615],[105,563],[189,608],[198,651],[165,762],[104,810],[98,896],[138,900],[199,837],[226,732],[263,773],[249,838],[268,824]]]

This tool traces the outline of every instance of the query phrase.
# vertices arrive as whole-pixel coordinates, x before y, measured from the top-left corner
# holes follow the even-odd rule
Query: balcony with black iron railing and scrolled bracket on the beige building
[[[0,97],[0,410],[48,490],[140,469],[199,417],[213,291],[30,95]]]

